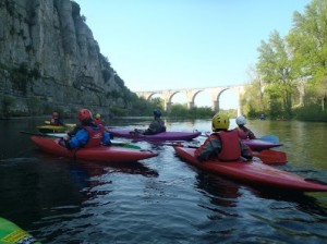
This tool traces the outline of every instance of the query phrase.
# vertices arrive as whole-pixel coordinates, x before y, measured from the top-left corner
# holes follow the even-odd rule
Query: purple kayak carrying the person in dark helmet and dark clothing
[[[191,141],[201,135],[201,132],[162,132],[155,135],[143,135],[126,129],[108,129],[109,133],[117,137],[138,141]]]

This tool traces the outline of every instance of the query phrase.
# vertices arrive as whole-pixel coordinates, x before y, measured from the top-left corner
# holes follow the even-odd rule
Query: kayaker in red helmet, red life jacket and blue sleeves
[[[81,109],[78,111],[78,120],[81,125],[76,126],[76,133],[73,137],[68,135],[59,142],[61,146],[68,149],[75,149],[80,147],[96,147],[99,145],[111,145],[110,134],[105,130],[105,126],[93,123],[92,112],[88,109]]]

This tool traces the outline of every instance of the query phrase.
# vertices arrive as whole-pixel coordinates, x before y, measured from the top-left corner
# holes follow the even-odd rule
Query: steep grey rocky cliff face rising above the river
[[[110,113],[130,90],[70,0],[0,0],[0,101],[43,113]],[[0,109],[1,110],[1,109]]]

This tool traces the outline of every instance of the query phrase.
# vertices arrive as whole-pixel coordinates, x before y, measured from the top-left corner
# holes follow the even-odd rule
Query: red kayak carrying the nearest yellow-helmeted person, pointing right
[[[221,162],[211,160],[201,162],[194,157],[194,148],[174,147],[184,161],[201,169],[249,184],[266,185],[296,192],[327,192],[327,184],[307,180],[300,175],[279,170],[255,161]]]

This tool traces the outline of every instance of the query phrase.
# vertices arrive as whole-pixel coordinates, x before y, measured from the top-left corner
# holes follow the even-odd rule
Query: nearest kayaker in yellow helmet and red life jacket
[[[235,130],[228,131],[229,117],[216,113],[213,118],[213,132],[204,144],[195,150],[199,161],[218,158],[221,161],[234,161],[241,157],[251,160],[252,150],[244,145]]]

